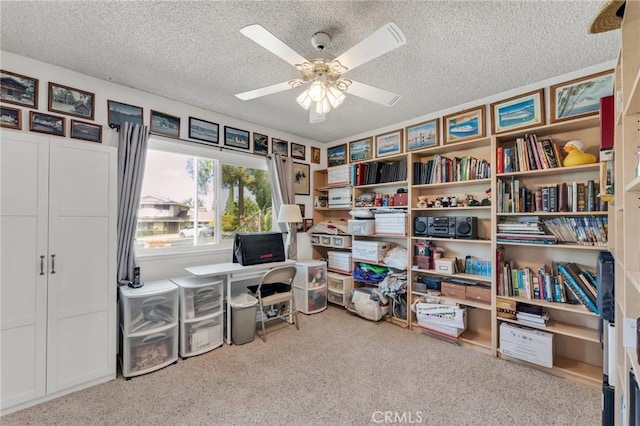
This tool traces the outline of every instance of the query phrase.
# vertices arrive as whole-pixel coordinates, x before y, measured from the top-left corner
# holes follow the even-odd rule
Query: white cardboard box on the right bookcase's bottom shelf
[[[553,367],[553,333],[503,322],[500,324],[500,352],[551,368]]]

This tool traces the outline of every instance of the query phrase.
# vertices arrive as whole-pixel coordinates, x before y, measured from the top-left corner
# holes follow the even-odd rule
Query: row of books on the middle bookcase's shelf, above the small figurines
[[[436,154],[424,163],[413,163],[414,185],[460,182],[489,177],[491,177],[490,163],[469,155],[449,158]]]

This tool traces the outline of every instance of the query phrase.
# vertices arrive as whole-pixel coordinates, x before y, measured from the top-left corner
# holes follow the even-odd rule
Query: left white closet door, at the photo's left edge
[[[2,409],[45,393],[49,141],[0,139]]]

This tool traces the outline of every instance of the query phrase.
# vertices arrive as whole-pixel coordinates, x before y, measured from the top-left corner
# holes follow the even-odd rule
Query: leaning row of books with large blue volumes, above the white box
[[[581,303],[591,312],[598,313],[596,276],[573,262],[549,262],[534,271],[529,267],[516,268],[513,261],[503,261],[500,270],[500,296]]]

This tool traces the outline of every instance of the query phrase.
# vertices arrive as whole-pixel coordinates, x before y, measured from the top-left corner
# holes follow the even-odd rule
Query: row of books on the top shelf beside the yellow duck
[[[554,169],[562,167],[563,159],[560,147],[553,140],[538,140],[533,133],[517,138],[513,146],[498,147],[496,155],[498,173]]]

